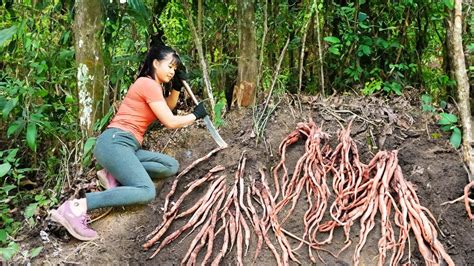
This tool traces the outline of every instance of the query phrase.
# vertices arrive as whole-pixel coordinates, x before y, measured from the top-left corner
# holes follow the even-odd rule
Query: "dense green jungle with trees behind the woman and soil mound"
[[[462,39],[452,30],[456,6]],[[97,167],[95,137],[134,81],[151,36],[179,52],[218,127],[235,110],[278,112],[287,96],[409,95],[436,117],[440,131],[433,138],[446,137],[460,152],[466,134],[459,102],[470,104],[471,97],[459,98],[454,42],[462,43],[469,92],[471,1],[2,0],[0,16],[6,261],[42,252],[41,245],[22,247],[21,235]],[[186,99],[181,108],[189,110]],[[265,124],[251,121],[256,138],[264,136]]]

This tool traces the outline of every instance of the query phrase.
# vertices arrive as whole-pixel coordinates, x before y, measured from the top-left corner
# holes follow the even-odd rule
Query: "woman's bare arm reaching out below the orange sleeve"
[[[179,94],[178,92],[173,92],[173,93]],[[156,115],[158,120],[160,120],[160,122],[166,128],[172,128],[172,129],[181,128],[181,127],[190,125],[194,121],[196,121],[196,116],[193,114],[173,115],[169,107],[168,100],[166,102],[164,101],[151,102],[148,105],[150,106],[151,110]]]

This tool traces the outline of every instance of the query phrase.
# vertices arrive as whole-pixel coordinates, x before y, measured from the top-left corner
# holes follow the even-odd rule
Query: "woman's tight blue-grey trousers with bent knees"
[[[129,132],[108,128],[96,141],[94,155],[121,186],[86,194],[87,209],[145,204],[156,196],[152,178],[165,178],[178,172],[174,158],[141,149]]]

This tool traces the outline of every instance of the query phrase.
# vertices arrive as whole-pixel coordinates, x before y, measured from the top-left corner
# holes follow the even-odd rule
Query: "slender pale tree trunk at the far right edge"
[[[450,57],[457,83],[458,105],[463,127],[463,156],[469,167],[469,178],[474,180],[474,152],[471,147],[471,106],[469,104],[469,79],[467,77],[466,62],[462,46],[462,0],[454,1],[454,9],[448,21],[450,42]]]

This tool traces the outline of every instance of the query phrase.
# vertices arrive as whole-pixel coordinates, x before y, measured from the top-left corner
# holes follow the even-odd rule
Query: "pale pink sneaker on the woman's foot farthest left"
[[[96,239],[98,237],[97,232],[87,226],[89,216],[85,212],[77,211],[78,206],[79,202],[77,200],[64,202],[58,209],[50,212],[51,220],[60,223],[72,236],[79,240]]]

